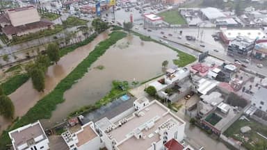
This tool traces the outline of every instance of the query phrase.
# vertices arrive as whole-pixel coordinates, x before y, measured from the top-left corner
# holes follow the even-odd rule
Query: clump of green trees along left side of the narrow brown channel
[[[26,71],[31,76],[33,88],[38,92],[44,92],[45,73],[50,63],[56,63],[60,60],[59,47],[56,43],[51,43],[47,47],[47,55],[39,54],[33,63],[26,66]]]

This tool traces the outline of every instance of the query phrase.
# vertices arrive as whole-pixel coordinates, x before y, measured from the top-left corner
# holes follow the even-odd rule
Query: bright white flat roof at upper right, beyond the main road
[[[200,11],[209,19],[216,19],[220,17],[226,17],[223,12],[220,12],[217,8],[202,8]]]

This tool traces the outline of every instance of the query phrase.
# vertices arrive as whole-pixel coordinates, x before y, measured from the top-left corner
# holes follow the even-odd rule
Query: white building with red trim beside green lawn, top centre
[[[156,28],[161,27],[163,19],[154,14],[144,15],[144,26],[146,28]]]

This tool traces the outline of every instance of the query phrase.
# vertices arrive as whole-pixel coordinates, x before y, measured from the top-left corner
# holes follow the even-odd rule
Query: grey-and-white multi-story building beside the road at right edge
[[[236,54],[241,56],[248,56],[254,49],[254,41],[248,38],[238,37],[229,42],[227,54],[234,56]]]

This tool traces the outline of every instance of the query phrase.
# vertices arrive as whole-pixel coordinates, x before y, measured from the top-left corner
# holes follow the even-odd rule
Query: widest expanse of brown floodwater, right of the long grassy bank
[[[162,74],[161,63],[177,58],[177,52],[155,42],[144,42],[129,35],[118,41],[92,64],[88,73],[64,94],[65,102],[60,103],[51,119],[42,120],[45,128],[62,122],[72,111],[95,103],[111,90],[113,80],[145,81]],[[103,65],[104,69],[95,69]]]

